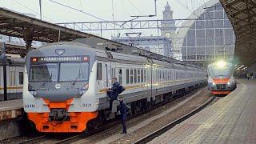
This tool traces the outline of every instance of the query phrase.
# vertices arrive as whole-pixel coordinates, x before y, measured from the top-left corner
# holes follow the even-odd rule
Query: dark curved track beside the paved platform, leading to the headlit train
[[[144,144],[147,142],[150,142],[154,138],[160,136],[161,134],[164,134],[166,131],[170,130],[174,126],[178,125],[179,123],[185,121],[187,118],[190,118],[194,114],[197,114],[199,111],[204,109],[206,106],[210,105],[211,102],[214,102],[216,97],[210,98],[207,102],[203,103],[202,106],[199,106],[195,110],[191,111],[189,114],[184,115],[182,118],[178,118],[174,122],[169,123],[166,126],[163,126],[162,128],[155,130],[153,133],[146,135],[145,137],[139,139],[138,141],[134,142],[134,144]]]

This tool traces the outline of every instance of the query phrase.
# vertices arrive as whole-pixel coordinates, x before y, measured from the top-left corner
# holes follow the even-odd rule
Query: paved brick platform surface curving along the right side
[[[174,126],[150,143],[256,143],[256,80]]]

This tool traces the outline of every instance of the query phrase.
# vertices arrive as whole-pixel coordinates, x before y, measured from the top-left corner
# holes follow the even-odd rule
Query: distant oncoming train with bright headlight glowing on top
[[[212,94],[230,94],[235,89],[234,66],[232,63],[219,61],[208,66],[208,89]]]

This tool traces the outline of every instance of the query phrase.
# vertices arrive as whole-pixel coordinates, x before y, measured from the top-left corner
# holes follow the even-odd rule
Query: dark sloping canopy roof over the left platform
[[[0,8],[0,34],[39,42],[72,41],[91,36],[3,8]]]

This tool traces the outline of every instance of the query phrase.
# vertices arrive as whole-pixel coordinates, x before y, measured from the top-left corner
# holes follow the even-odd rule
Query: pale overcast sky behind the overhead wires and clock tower
[[[16,10],[21,13],[35,14],[39,16],[39,0],[0,0],[0,6],[10,10]],[[62,3],[66,6],[82,10],[98,18],[112,21],[128,20],[130,15],[148,15],[154,14],[154,0],[52,0]],[[208,0],[157,0],[158,16],[152,19],[162,19],[162,10],[169,2],[174,10],[174,18],[187,18],[192,10],[196,10]],[[91,17],[76,10],[71,10],[65,6],[51,2],[51,0],[42,0],[42,19],[49,22],[92,22],[101,21],[98,18]],[[110,34],[117,34],[117,31],[104,32],[105,37]],[[106,34],[107,33],[107,34]]]

